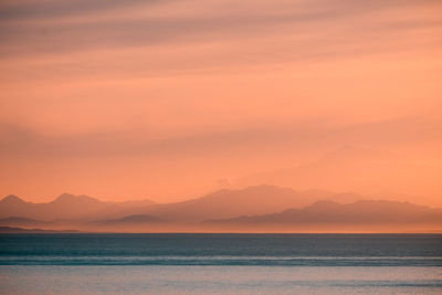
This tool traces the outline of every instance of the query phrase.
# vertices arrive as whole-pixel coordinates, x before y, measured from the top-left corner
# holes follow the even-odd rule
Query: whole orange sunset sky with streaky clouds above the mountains
[[[0,38],[0,196],[442,207],[442,1],[3,0]]]

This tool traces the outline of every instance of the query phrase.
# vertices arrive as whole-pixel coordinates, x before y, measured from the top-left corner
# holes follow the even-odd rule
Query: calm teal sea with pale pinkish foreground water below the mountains
[[[442,294],[442,234],[0,234],[0,294]]]

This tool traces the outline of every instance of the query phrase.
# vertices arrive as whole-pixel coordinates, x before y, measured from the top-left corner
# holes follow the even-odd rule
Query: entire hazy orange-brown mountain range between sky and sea
[[[275,186],[219,190],[175,203],[103,202],[63,193],[46,203],[0,201],[0,226],[81,231],[394,231],[440,230],[442,210],[364,200],[357,193],[295,191]]]

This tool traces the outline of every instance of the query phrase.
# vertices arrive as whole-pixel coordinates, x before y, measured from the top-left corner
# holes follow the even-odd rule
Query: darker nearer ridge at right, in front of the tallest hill
[[[303,209],[288,209],[280,213],[240,217],[224,220],[209,220],[210,225],[229,228],[280,228],[280,229],[375,229],[386,226],[442,226],[442,211],[408,202],[362,200],[341,204],[334,201],[318,201]],[[411,229],[411,228],[410,228]]]

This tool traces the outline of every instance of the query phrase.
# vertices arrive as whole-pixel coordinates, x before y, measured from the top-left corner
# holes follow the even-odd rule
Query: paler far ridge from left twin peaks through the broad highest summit
[[[239,215],[266,214],[287,208],[302,208],[317,200],[355,201],[356,193],[334,194],[323,190],[295,191],[274,186],[240,190],[219,190],[202,198],[176,202],[145,201],[102,202],[88,196],[63,193],[52,202],[25,202],[15,196],[0,201],[0,218],[20,217],[41,221],[120,219],[145,214],[164,220],[199,222]]]

